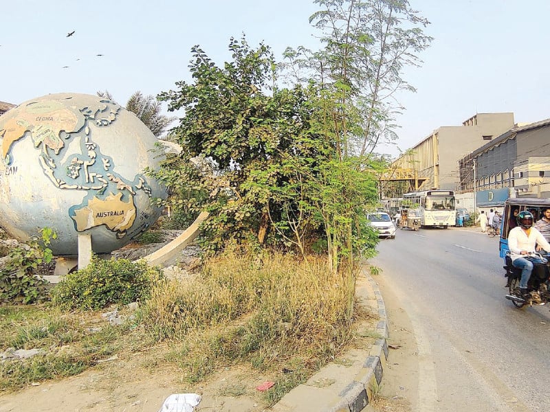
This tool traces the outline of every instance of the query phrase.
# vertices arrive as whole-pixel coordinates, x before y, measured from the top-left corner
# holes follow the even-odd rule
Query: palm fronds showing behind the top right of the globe
[[[115,102],[109,91],[98,91],[98,96]],[[136,91],[126,102],[126,110],[134,113],[153,132],[156,137],[162,137],[166,129],[177,117],[162,114],[162,105],[153,96],[144,96]]]

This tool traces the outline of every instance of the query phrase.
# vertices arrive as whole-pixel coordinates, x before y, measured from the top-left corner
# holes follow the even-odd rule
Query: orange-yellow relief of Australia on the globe
[[[77,231],[84,231],[92,227],[105,225],[122,237],[135,220],[133,196],[128,202],[122,201],[122,193],[109,194],[104,199],[94,196],[87,205],[74,210],[71,216],[76,223]]]

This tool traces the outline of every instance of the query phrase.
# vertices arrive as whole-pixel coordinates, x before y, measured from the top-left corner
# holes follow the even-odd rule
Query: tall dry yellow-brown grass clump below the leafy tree
[[[240,362],[305,376],[351,341],[347,301],[322,258],[231,251],[192,282],[159,284],[142,322],[154,339],[181,341],[168,358],[191,382]]]

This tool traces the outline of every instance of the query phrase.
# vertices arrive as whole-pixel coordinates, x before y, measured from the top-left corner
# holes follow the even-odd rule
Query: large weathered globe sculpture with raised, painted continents
[[[59,93],[0,116],[0,226],[19,240],[54,229],[54,255],[110,253],[150,227],[166,190],[145,174],[162,157],[133,113],[95,95]]]

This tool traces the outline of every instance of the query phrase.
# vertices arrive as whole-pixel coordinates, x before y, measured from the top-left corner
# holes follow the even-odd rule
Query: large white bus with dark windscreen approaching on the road
[[[454,192],[452,190],[423,190],[403,195],[403,203],[420,210],[421,227],[456,225]]]

